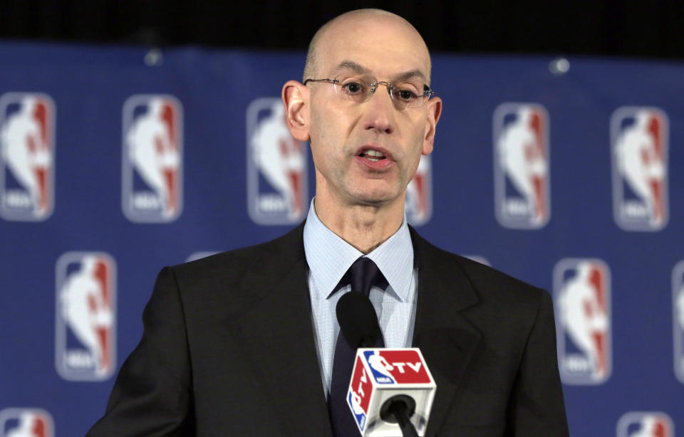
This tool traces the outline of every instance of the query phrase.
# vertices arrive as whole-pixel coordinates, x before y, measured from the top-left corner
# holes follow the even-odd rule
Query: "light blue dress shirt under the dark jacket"
[[[333,369],[333,355],[340,327],[335,307],[351,286],[333,294],[335,286],[363,253],[328,229],[316,216],[311,201],[304,224],[304,252],[309,263],[309,295],[314,317],[318,364],[321,367],[323,389],[328,395]],[[410,347],[415,322],[418,270],[413,268],[413,244],[406,217],[400,228],[366,257],[378,265],[389,283],[383,293],[371,288],[370,299],[378,313],[385,347]]]

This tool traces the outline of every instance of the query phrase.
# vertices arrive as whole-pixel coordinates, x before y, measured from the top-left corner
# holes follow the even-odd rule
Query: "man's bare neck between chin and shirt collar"
[[[326,197],[314,199],[316,216],[331,231],[361,253],[370,253],[393,236],[403,221],[403,199],[381,206],[341,207]]]

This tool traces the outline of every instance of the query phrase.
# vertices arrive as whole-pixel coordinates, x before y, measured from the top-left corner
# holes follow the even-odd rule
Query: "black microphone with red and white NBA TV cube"
[[[382,332],[363,293],[343,295],[336,313],[345,341],[359,348],[346,400],[361,436],[425,436],[437,385],[420,349],[373,347]]]

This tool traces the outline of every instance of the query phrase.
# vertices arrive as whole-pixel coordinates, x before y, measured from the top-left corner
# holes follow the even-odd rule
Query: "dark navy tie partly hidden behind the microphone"
[[[373,286],[385,290],[388,285],[385,276],[373,263],[373,260],[363,256],[354,261],[341,282],[344,285],[351,284],[351,293],[363,293],[366,297],[371,293]],[[374,346],[385,347],[382,335],[375,340]],[[330,383],[330,394],[328,395],[330,421],[333,426],[333,436],[336,437],[360,435],[346,401],[354,357],[356,357],[356,347],[352,349],[340,332],[335,346],[333,376]]]

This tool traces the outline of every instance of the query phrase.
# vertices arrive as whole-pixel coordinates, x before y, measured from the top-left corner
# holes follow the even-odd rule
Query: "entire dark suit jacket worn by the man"
[[[164,268],[88,436],[331,436],[303,229]],[[427,436],[567,436],[549,294],[411,238]]]

